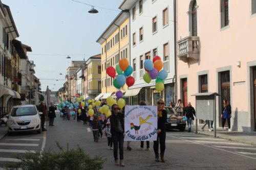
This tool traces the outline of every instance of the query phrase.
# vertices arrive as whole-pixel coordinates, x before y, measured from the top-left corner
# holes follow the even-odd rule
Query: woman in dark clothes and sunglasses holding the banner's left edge
[[[118,112],[119,106],[117,104],[112,105],[111,112],[112,115],[110,116],[110,125],[111,125],[111,134],[112,140],[114,143],[114,160],[115,165],[125,166],[123,163],[123,139],[125,136],[124,133],[124,124],[123,118],[124,114]],[[118,162],[117,150],[119,147],[119,157],[120,163]]]

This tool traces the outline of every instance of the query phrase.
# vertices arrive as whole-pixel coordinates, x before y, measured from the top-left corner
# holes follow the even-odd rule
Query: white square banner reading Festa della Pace
[[[157,140],[157,106],[126,105],[124,141]]]

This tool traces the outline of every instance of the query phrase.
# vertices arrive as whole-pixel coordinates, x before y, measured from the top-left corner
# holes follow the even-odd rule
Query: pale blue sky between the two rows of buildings
[[[57,91],[65,83],[71,61],[87,60],[100,54],[96,42],[120,10],[122,0],[2,0],[11,9],[19,37],[32,52],[28,58],[35,63],[35,76],[41,90]],[[90,14],[95,6],[99,11]],[[105,9],[107,8],[107,9]],[[67,56],[71,59],[67,59]],[[62,75],[59,75],[61,72]],[[43,80],[51,79],[51,80]],[[58,81],[56,81],[58,80]]]

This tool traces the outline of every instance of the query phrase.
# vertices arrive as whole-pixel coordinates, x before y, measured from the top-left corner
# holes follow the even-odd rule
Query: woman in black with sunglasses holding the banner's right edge
[[[158,153],[158,145],[160,143],[160,158],[162,162],[165,162],[164,160],[164,151],[165,151],[165,121],[167,119],[167,112],[164,109],[165,102],[163,99],[159,99],[157,101],[157,114],[158,114],[158,122],[157,122],[157,140],[154,141],[154,152],[156,156],[156,161],[159,161],[159,153]]]

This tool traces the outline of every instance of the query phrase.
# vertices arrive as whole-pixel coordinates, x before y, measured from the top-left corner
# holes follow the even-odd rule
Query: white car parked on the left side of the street
[[[8,133],[36,131],[41,133],[41,112],[35,105],[14,106],[8,115]]]

